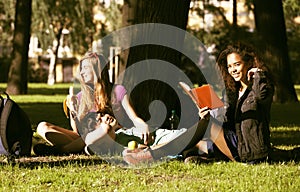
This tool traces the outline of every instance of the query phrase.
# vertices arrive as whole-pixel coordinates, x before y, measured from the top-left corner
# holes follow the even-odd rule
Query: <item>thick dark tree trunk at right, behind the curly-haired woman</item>
[[[254,6],[259,48],[275,80],[274,101],[297,102],[291,78],[282,1],[274,0],[270,3],[268,0],[254,0]]]

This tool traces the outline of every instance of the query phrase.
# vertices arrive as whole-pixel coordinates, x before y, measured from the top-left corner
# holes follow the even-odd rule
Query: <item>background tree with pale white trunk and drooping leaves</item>
[[[69,34],[68,43],[78,54],[83,54],[91,46],[95,32],[91,11],[96,3],[96,0],[33,1],[32,30],[41,40],[43,50],[50,46],[48,84],[55,83],[55,65],[62,35]]]

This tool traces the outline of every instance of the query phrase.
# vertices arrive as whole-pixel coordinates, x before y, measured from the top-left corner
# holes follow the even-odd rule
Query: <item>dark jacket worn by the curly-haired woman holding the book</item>
[[[273,84],[265,72],[259,71],[241,98],[238,99],[237,92],[224,95],[225,112],[223,115],[218,113],[217,119],[221,120],[225,134],[228,130],[236,133],[240,161],[249,162],[268,156],[273,94]]]

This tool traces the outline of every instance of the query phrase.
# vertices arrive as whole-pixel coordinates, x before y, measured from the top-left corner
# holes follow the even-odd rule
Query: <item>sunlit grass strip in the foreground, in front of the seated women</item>
[[[106,163],[1,167],[1,191],[299,191],[299,166],[173,161],[148,169]]]

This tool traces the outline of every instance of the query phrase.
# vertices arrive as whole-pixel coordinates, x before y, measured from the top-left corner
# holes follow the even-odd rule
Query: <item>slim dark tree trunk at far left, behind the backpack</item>
[[[28,50],[30,42],[31,0],[17,0],[13,59],[9,69],[6,92],[26,94],[28,81]]]

